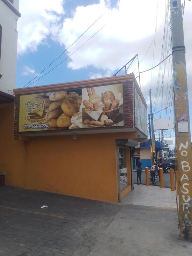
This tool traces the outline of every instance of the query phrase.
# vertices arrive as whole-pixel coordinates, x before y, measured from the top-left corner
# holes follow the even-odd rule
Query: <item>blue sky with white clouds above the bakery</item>
[[[54,4],[52,0],[20,0],[16,88],[21,88],[34,79],[101,15],[80,39],[36,78],[40,78],[38,81],[34,79],[32,82],[35,82],[29,85],[111,76],[137,53],[141,61],[140,71],[157,65],[171,53],[168,6],[168,0],[54,0]],[[192,2],[186,1],[183,23],[192,117],[191,16]],[[92,38],[85,43],[90,37]],[[82,44],[84,45],[80,47]],[[62,64],[43,76],[67,57],[69,58]],[[172,104],[171,65],[170,57],[153,71],[140,75],[141,91],[147,104],[149,89],[152,89],[154,113]],[[128,73],[131,72],[138,72],[137,60],[128,70]],[[169,117],[173,117],[172,108],[155,115],[155,118]]]

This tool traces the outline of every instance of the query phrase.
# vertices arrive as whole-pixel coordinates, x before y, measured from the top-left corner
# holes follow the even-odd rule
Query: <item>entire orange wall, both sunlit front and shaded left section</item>
[[[13,104],[0,105],[0,168],[7,185],[118,202],[116,139],[135,132],[13,140],[13,110]]]

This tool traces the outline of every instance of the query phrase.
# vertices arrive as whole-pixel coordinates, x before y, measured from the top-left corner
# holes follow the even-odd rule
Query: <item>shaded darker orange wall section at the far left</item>
[[[13,140],[14,103],[0,104],[0,171],[6,185],[25,187],[27,152],[25,142]]]

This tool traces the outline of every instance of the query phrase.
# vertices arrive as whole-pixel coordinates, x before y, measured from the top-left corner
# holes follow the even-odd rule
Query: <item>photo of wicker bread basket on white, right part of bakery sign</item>
[[[115,86],[109,86],[115,91]],[[108,87],[108,88],[109,88]],[[119,110],[123,105],[123,85],[121,92],[113,93],[111,90],[102,91],[105,86],[87,88],[88,98],[83,99],[83,127],[109,127],[120,125],[123,113]],[[115,89],[114,89],[115,88]],[[83,91],[83,96],[84,96]],[[97,93],[96,93],[97,92]],[[99,93],[98,93],[99,92]],[[122,108],[121,108],[122,109]],[[123,110],[121,111],[123,112]],[[91,121],[87,123],[87,119]]]

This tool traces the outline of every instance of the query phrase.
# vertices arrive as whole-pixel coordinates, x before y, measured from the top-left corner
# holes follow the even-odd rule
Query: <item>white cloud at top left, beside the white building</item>
[[[18,54],[37,51],[50,35],[52,26],[58,24],[64,0],[20,0],[21,18],[17,24]]]

